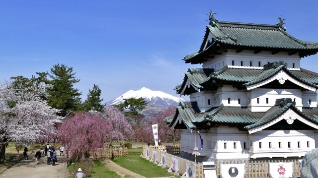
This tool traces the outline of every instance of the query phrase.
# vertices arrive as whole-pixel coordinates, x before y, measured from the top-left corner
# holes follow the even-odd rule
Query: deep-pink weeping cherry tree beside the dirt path
[[[69,149],[71,158],[87,157],[92,148],[101,148],[113,130],[110,120],[98,114],[72,114],[58,127],[59,142]]]

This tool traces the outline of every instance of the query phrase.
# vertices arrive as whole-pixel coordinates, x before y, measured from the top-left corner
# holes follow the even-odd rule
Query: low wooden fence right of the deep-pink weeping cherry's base
[[[89,155],[93,159],[114,158],[128,156],[128,148],[126,147],[110,147],[110,148],[96,148],[90,150]]]

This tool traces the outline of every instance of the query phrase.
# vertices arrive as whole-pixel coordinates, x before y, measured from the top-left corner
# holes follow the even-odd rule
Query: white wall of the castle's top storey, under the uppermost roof
[[[298,54],[289,56],[288,53],[280,52],[278,54],[272,55],[271,52],[260,52],[254,54],[254,51],[242,51],[236,53],[236,50],[229,50],[228,53],[222,52],[222,55],[215,55],[214,59],[209,59],[203,63],[203,68],[214,68],[220,70],[226,65],[233,65],[232,61],[234,60],[235,66],[250,66],[250,61],[252,66],[263,67],[265,64],[270,62],[276,62],[278,60],[283,60],[287,64],[289,69],[299,69],[300,68],[300,58]]]

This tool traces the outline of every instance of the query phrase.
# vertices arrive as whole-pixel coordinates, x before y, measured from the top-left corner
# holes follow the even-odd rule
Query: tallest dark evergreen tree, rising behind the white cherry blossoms
[[[43,73],[40,73],[43,74]],[[78,111],[80,105],[79,89],[74,88],[74,84],[79,82],[75,78],[73,67],[64,64],[53,65],[46,75],[51,78],[47,82],[52,86],[48,88],[48,104],[52,108],[60,109],[60,116],[66,116],[70,111]],[[44,76],[40,75],[41,78]]]

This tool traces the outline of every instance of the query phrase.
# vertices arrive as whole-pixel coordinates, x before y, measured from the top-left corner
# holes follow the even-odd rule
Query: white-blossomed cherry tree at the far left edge
[[[54,133],[53,125],[61,122],[60,110],[43,100],[48,96],[44,83],[15,79],[0,84],[0,158],[4,160],[5,144],[15,141],[26,144],[36,141],[45,132]]]

